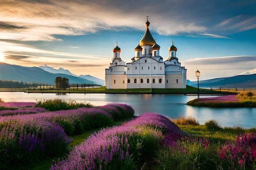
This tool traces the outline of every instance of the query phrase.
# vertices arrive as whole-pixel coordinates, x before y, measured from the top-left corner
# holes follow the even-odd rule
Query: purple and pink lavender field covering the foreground
[[[114,121],[133,117],[134,110],[127,104],[58,111],[35,106],[31,102],[0,103],[1,170],[29,169],[58,155],[63,157],[49,164],[49,169],[256,168],[256,132],[237,134],[236,141],[221,144],[184,132],[158,113],[144,113],[112,126]],[[94,128],[101,130],[68,150],[72,136]]]

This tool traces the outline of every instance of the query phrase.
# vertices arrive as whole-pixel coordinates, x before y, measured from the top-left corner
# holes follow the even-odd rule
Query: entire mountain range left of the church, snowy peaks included
[[[40,68],[41,67],[41,68]],[[0,79],[16,80],[22,82],[34,82],[54,84],[56,77],[66,77],[70,84],[99,84],[104,86],[105,81],[91,75],[76,76],[63,68],[58,70],[49,66],[24,67],[0,63]]]

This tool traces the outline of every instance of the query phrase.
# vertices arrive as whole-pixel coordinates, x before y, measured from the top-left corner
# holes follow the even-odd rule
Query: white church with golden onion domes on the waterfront
[[[110,66],[105,69],[107,89],[186,88],[186,68],[176,57],[173,40],[168,49],[169,57],[164,61],[159,55],[160,46],[149,31],[149,24],[147,20],[146,32],[135,47],[135,57],[130,62],[121,60],[121,49],[116,42]]]

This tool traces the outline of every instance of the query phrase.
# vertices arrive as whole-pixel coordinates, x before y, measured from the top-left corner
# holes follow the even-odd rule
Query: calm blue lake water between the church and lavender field
[[[200,96],[214,97],[214,96]],[[131,105],[135,115],[143,113],[160,113],[167,117],[178,116],[196,117],[200,124],[209,119],[218,121],[221,126],[243,128],[256,127],[256,108],[204,108],[187,106],[186,102],[197,98],[197,95],[169,95],[169,94],[65,94],[56,93],[24,93],[0,92],[4,102],[36,102],[43,99],[71,99],[77,102],[90,102],[94,105],[108,103],[124,103]]]

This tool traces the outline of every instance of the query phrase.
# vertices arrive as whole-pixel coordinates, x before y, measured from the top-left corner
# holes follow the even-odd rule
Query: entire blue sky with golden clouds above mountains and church
[[[164,61],[173,40],[191,81],[256,68],[256,0],[0,0],[0,62],[105,79],[116,42],[135,56],[147,16]]]

